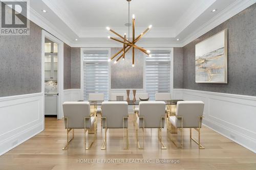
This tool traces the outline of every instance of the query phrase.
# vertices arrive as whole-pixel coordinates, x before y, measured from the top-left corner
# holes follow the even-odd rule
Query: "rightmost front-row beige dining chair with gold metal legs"
[[[179,101],[177,103],[176,116],[170,116],[169,122],[174,127],[181,130],[181,146],[179,148],[183,147],[183,128],[189,128],[190,139],[194,140],[198,144],[199,149],[204,149],[200,143],[200,129],[202,127],[203,111],[204,103],[201,101]],[[191,128],[198,131],[198,141],[192,137]],[[171,129],[169,134],[172,135]],[[170,140],[173,141],[172,136],[170,136]],[[175,142],[174,144],[176,145]]]

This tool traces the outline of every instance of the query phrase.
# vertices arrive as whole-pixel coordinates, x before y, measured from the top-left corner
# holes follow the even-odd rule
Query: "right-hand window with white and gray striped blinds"
[[[155,100],[155,93],[170,92],[170,51],[152,50],[152,57],[146,57],[146,92],[150,100]]]

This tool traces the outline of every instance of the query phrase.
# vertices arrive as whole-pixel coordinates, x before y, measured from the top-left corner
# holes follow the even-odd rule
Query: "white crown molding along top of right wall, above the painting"
[[[254,3],[256,3],[256,0],[238,0],[234,2],[233,4],[225,8],[223,11],[218,13],[218,15],[212,17],[209,21],[204,23],[204,25],[195,30],[193,33],[185,37],[184,40],[181,42],[182,46],[185,46],[191,41],[194,41],[198,37],[219,26],[224,21],[228,20],[232,16],[238,14],[239,12],[243,11],[244,9],[248,8]]]

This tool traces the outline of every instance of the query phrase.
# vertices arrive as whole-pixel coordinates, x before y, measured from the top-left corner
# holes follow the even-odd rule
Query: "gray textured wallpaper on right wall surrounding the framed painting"
[[[256,4],[183,47],[183,88],[256,95]],[[195,83],[195,45],[228,29],[228,84]]]

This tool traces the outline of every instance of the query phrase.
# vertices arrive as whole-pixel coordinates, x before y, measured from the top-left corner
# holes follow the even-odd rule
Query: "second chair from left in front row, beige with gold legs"
[[[128,138],[128,103],[127,102],[102,102],[102,128],[105,129],[105,137],[102,143],[102,150],[106,149],[106,132],[108,129],[126,129],[126,148],[129,148]]]

